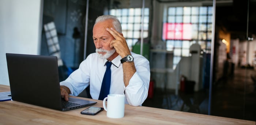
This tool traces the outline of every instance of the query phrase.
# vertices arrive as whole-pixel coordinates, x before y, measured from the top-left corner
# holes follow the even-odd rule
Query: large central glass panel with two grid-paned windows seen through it
[[[212,3],[115,0],[103,13],[118,17],[132,52],[140,54],[143,39],[151,68],[143,106],[208,114]]]

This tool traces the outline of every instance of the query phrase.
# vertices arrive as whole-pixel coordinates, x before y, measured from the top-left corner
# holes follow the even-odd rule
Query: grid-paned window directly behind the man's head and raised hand
[[[142,8],[111,9],[110,15],[115,15],[122,25],[122,33],[130,49],[138,42],[142,29]],[[144,8],[143,38],[148,37],[149,8]]]

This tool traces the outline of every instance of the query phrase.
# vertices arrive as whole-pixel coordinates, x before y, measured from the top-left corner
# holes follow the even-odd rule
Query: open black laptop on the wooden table
[[[61,111],[97,103],[71,97],[67,102],[61,98],[56,56],[6,53],[6,60],[13,101]]]

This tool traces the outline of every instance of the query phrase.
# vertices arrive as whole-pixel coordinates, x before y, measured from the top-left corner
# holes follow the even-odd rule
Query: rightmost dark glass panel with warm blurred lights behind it
[[[256,120],[255,5],[217,3],[211,115]]]

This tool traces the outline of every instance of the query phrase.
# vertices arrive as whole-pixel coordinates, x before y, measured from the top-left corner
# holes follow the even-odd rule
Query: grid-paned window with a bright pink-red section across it
[[[190,55],[193,43],[211,52],[212,7],[169,7],[166,19],[162,39],[166,50],[173,50],[173,68],[182,56]]]

